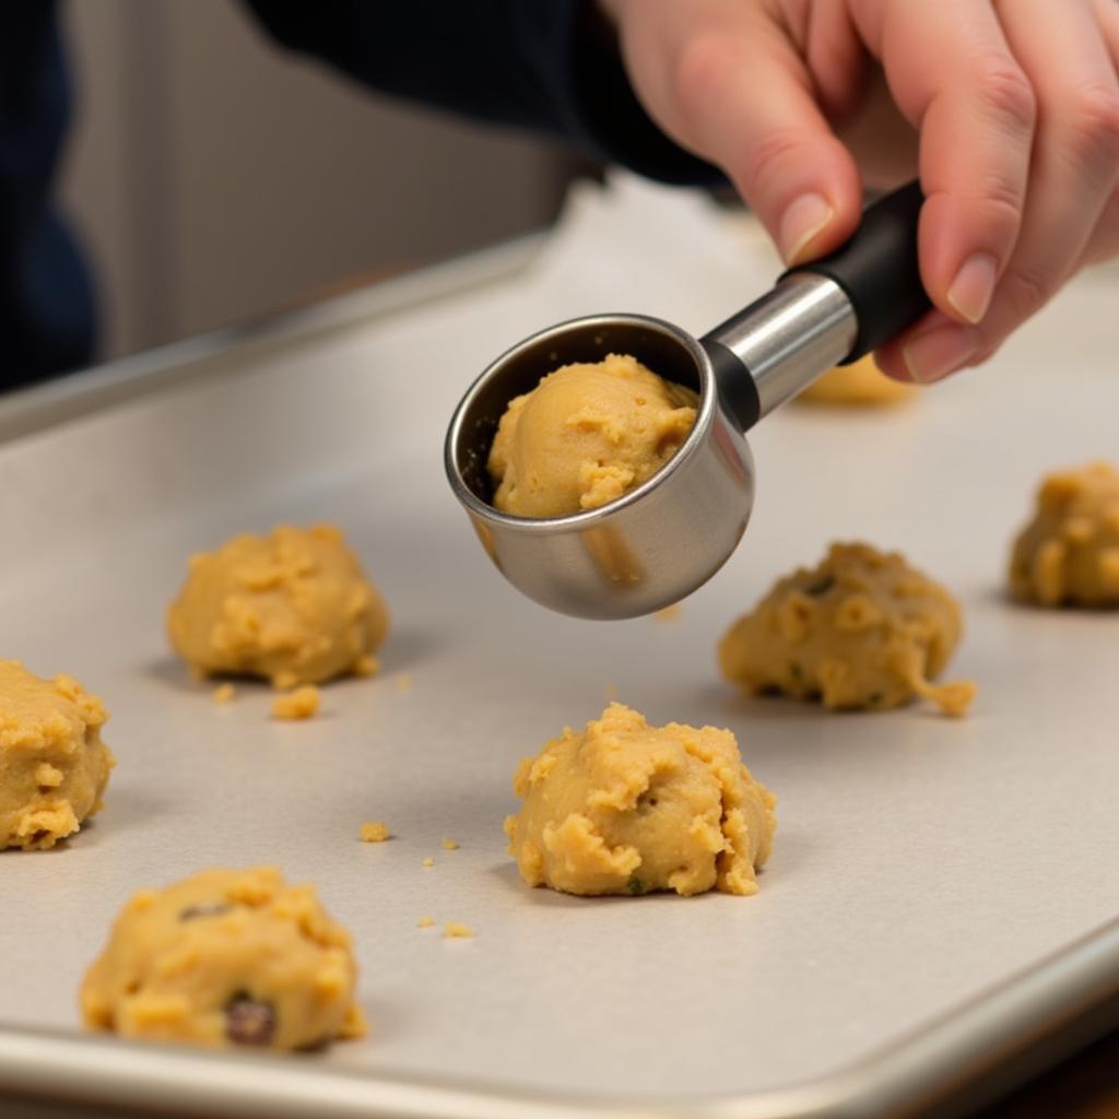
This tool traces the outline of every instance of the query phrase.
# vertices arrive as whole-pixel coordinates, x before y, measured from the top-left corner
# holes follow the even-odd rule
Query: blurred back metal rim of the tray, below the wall
[[[0,445],[227,369],[247,350],[345,329],[516,276],[546,238],[532,233],[318,302],[185,338],[0,396]]]

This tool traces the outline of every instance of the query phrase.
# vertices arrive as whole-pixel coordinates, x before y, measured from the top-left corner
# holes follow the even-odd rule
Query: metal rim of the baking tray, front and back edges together
[[[262,349],[414,310],[525,271],[546,243],[528,234],[464,256],[141,351],[0,397],[0,448],[151,393],[195,384]],[[234,374],[236,375],[236,374]],[[620,1102],[377,1073],[274,1057],[151,1046],[0,1021],[0,1102],[275,1119],[809,1119],[962,1113],[1119,1025],[1119,918],[859,1061],[814,1081],[709,1100]],[[996,1085],[993,1088],[993,1085]],[[950,1102],[948,1102],[950,1101]]]

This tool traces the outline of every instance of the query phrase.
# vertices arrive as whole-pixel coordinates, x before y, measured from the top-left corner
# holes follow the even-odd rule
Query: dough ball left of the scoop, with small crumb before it
[[[330,525],[284,525],[191,556],[167,621],[196,671],[263,676],[278,688],[370,675],[388,632],[385,603]]]

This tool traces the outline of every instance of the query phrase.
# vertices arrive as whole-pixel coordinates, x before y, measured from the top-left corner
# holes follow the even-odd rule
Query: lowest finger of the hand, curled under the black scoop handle
[[[1106,214],[1119,182],[1119,79],[1092,8],[1075,0],[1014,0],[1000,11],[1037,104],[1019,234],[993,292],[985,278],[968,276],[965,269],[956,281],[960,291],[947,293],[950,307],[940,307],[882,355],[888,372],[903,365],[914,380],[935,380],[989,356],[1110,239],[1113,218]],[[922,234],[929,235],[925,228]],[[953,326],[952,318],[961,317],[968,321]]]

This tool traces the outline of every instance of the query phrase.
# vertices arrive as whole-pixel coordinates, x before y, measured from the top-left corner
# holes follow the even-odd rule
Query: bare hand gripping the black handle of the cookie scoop
[[[727,173],[787,263],[850,236],[864,177],[920,172],[933,310],[877,351],[892,376],[980,364],[1119,255],[1117,0],[600,3],[650,115]]]

